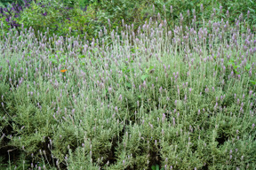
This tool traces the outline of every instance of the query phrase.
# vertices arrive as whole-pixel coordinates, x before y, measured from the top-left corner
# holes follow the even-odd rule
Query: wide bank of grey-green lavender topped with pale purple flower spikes
[[[47,12],[43,15],[47,16]],[[159,13],[157,17],[161,19]],[[196,17],[193,19],[196,22]],[[101,155],[107,155],[107,163],[108,151],[114,147],[117,157],[122,156],[116,159],[117,166],[118,161],[121,166],[131,165],[132,154],[148,157],[143,165],[146,166],[153,158],[149,153],[159,153],[165,168],[196,169],[205,162],[212,164],[208,154],[212,152],[215,157],[217,151],[222,155],[215,157],[218,166],[227,161],[234,167],[236,159],[253,157],[248,149],[243,151],[237,146],[246,143],[252,147],[252,140],[248,139],[255,136],[256,42],[249,30],[240,32],[236,25],[232,30],[223,20],[210,23],[211,27],[174,27],[172,32],[164,32],[166,23],[145,23],[137,30],[139,35],[133,30],[117,35],[113,30],[113,44],[109,46],[104,43],[107,39],[102,31],[99,35],[103,40],[92,39],[90,43],[74,37],[64,42],[57,35],[46,42],[47,33],[40,32],[37,40],[32,28],[22,30],[23,39],[17,40],[17,32],[12,30],[4,35],[6,41],[0,42],[4,54],[0,58],[0,81],[10,85],[12,91],[6,91],[12,93],[15,102],[30,104],[28,108],[17,104],[20,112],[28,109],[29,112],[22,112],[27,114],[26,119],[34,119],[34,114],[39,118],[28,121],[29,126],[25,120],[22,122],[26,132],[34,132],[36,127],[38,131],[48,129],[49,135],[57,134],[43,138],[47,142],[40,148],[43,150],[48,144],[47,154],[52,157],[56,146],[64,152],[77,139],[75,147],[84,151],[81,157],[88,156],[91,163],[100,162]],[[52,53],[53,49],[56,52]],[[8,108],[5,98],[3,93],[0,102],[4,112]],[[20,112],[13,114],[19,116]],[[20,119],[23,115],[16,120]],[[43,121],[65,126],[45,128]],[[37,135],[40,134],[45,133]],[[10,140],[15,139],[15,135],[9,136]],[[20,150],[32,148],[30,143],[23,143],[22,137],[19,140]],[[223,143],[226,151],[222,150]],[[182,163],[181,152],[195,151],[200,154],[193,155],[193,161]],[[63,158],[72,157],[64,154]],[[59,160],[54,162],[56,166],[60,164]]]

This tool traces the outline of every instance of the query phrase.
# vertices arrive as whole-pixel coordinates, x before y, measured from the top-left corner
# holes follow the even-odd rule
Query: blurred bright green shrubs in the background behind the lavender
[[[103,27],[108,30],[107,36],[117,27],[120,34],[124,28],[122,19],[125,24],[134,25],[136,34],[138,27],[146,20],[152,18],[156,21],[158,13],[161,15],[158,23],[166,17],[170,29],[180,23],[180,13],[183,26],[191,24],[195,14],[196,24],[202,25],[197,20],[211,18],[212,13],[215,13],[214,19],[228,20],[231,25],[240,16],[250,23],[254,31],[256,23],[256,4],[252,0],[0,0],[0,5],[2,35],[12,27],[20,30],[23,24],[23,27],[32,27],[36,36],[39,36],[38,30],[44,33],[49,27],[50,36],[54,34],[66,38],[79,35],[84,38],[86,34],[89,42],[99,38],[99,31]]]

